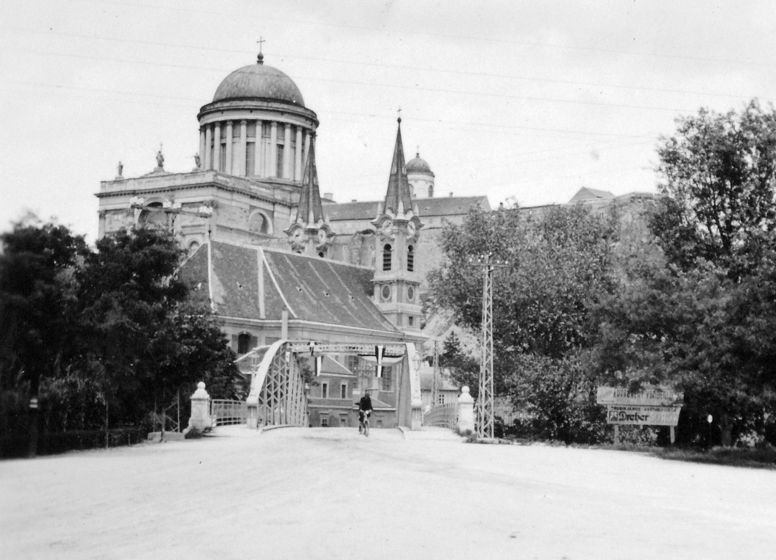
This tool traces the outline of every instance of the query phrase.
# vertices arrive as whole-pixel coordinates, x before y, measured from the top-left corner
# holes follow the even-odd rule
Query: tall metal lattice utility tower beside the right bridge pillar
[[[494,437],[493,383],[493,271],[507,266],[494,260],[493,254],[469,259],[469,264],[483,267],[483,320],[480,336],[480,390],[477,395],[477,437]]]

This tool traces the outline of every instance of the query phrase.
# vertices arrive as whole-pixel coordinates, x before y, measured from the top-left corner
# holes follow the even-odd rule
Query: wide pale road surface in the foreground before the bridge
[[[411,432],[0,462],[2,558],[776,558],[776,472]]]

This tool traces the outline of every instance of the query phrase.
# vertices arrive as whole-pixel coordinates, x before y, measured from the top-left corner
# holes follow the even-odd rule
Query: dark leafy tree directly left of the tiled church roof
[[[231,397],[240,376],[215,317],[175,271],[183,251],[164,230],[120,230],[97,242],[79,280],[85,351],[120,417],[142,419],[165,393],[209,382]]]

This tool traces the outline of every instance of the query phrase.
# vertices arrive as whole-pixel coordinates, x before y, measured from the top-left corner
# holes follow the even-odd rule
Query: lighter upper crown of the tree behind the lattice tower
[[[515,352],[561,358],[587,344],[587,309],[611,291],[612,220],[584,206],[556,207],[543,216],[519,210],[472,209],[462,226],[440,237],[445,258],[429,275],[439,306],[456,322],[480,329],[482,275],[468,258],[491,253],[508,261],[494,271],[494,367],[497,393]]]

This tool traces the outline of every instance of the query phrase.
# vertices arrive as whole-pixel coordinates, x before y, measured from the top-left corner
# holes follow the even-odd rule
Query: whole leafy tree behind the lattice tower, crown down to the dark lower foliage
[[[594,383],[580,367],[591,343],[590,309],[615,288],[611,244],[616,216],[585,206],[554,207],[539,216],[519,209],[473,209],[441,236],[445,258],[429,275],[439,306],[480,330],[482,275],[468,258],[508,261],[494,271],[494,385],[497,395],[532,413],[533,433],[563,441],[597,441],[601,413],[590,404]],[[445,342],[442,363],[476,387],[479,365]]]

